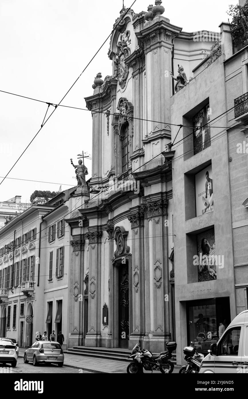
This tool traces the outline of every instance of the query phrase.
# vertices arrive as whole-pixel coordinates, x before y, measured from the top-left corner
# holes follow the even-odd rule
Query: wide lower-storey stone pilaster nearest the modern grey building
[[[165,342],[170,340],[170,308],[169,308],[169,276],[168,276],[168,227],[165,223],[167,219],[168,200],[161,196],[152,200],[146,198],[145,219],[148,226],[148,257],[147,279],[146,279],[146,313],[150,318],[146,322],[146,338],[149,336],[150,350],[160,352],[165,348]],[[148,285],[149,281],[149,285]],[[150,303],[147,303],[150,299]]]

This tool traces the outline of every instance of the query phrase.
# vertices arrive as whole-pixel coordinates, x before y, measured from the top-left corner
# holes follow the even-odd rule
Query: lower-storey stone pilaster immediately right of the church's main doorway
[[[131,320],[129,321],[129,348],[143,342],[145,334],[145,267],[144,267],[144,214],[141,207],[131,209],[128,216],[132,229]],[[130,268],[129,268],[130,270]]]

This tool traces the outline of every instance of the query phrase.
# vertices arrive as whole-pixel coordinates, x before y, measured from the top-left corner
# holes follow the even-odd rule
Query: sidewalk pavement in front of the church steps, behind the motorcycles
[[[23,358],[25,349],[20,348],[18,357]],[[100,358],[91,358],[90,356],[80,356],[64,354],[64,366],[90,371],[91,373],[127,373],[128,361],[109,360]],[[173,373],[178,373],[181,366],[175,366]],[[145,373],[150,371],[145,371]],[[158,371],[154,371],[158,373]]]

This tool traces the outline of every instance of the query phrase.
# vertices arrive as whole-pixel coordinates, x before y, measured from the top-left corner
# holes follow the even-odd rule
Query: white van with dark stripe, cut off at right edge
[[[229,324],[201,362],[199,373],[248,373],[248,310]]]

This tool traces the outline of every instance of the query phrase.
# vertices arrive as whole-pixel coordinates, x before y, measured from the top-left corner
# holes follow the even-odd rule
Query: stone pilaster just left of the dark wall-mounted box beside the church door
[[[101,237],[102,231],[86,233],[89,239],[89,308],[85,346],[101,346]]]

